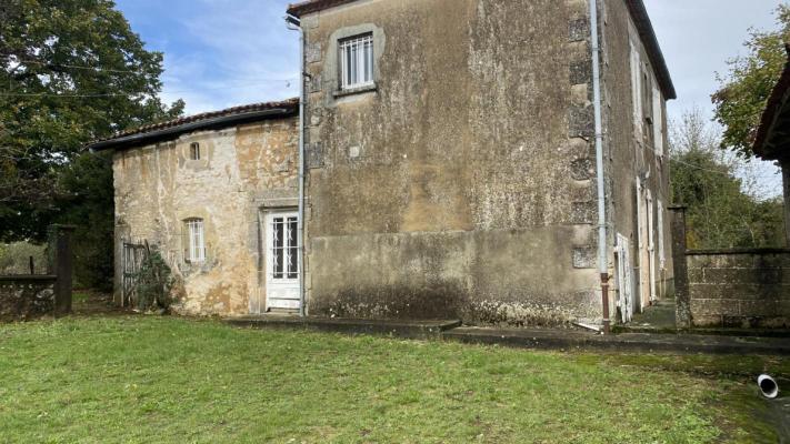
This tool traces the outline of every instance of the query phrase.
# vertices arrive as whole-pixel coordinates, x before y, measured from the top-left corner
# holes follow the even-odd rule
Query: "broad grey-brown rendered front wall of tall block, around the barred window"
[[[600,319],[588,3],[368,0],[308,14],[311,314]],[[376,89],[338,91],[371,32]]]

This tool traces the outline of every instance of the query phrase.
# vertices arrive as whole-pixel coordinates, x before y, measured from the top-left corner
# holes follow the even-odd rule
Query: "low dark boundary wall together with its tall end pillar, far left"
[[[71,312],[73,254],[70,225],[50,228],[51,273],[0,275],[0,322]]]

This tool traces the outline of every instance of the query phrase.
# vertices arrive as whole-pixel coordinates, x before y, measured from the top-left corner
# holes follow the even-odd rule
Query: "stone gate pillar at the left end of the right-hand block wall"
[[[678,329],[691,327],[689,270],[686,262],[686,206],[670,206],[672,264],[674,271],[674,321]]]

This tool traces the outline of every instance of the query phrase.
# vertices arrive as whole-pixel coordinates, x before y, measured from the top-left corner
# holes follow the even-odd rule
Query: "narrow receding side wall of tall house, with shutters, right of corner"
[[[619,233],[628,239],[634,268],[637,287],[642,294],[636,307],[649,303],[649,255],[653,255],[656,293],[659,297],[673,292],[670,218],[669,154],[667,150],[666,98],[662,94],[660,123],[663,129],[664,152],[657,148],[652,127],[656,121],[652,110],[652,88],[656,84],[654,67],[639,38],[633,19],[624,0],[600,0],[601,67],[603,79],[604,144],[607,147],[607,196],[611,235]],[[646,78],[643,91],[642,131],[637,131],[633,117],[630,51],[637,47]],[[638,178],[641,190],[638,191]],[[653,250],[648,251],[648,194],[652,198]],[[638,208],[638,205],[641,205]],[[661,213],[659,216],[659,212]],[[641,216],[642,232],[638,231]],[[662,231],[662,235],[659,235]],[[640,239],[641,238],[641,239]],[[663,244],[660,244],[660,238]],[[609,239],[610,245],[614,239]],[[640,248],[641,245],[641,248]],[[663,250],[663,262],[660,252]],[[641,283],[641,289],[639,284]],[[614,287],[619,282],[613,280]],[[640,303],[641,302],[641,303]]]

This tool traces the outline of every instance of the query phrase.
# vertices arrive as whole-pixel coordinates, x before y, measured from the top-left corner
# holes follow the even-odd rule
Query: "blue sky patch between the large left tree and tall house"
[[[163,97],[188,113],[299,95],[288,0],[118,0],[147,48],[164,53]]]

